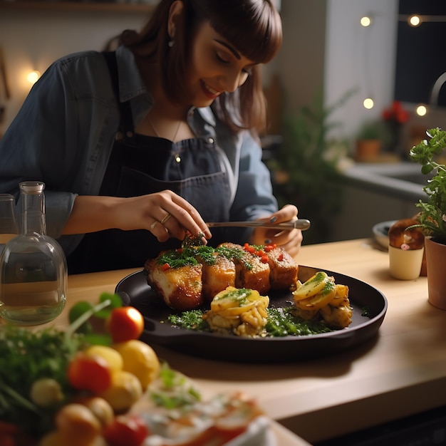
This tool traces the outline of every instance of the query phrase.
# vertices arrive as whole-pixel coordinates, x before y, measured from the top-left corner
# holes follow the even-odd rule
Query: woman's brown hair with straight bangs
[[[124,31],[121,42],[135,56],[160,64],[160,76],[168,97],[178,102],[184,95],[182,79],[190,61],[192,41],[205,21],[242,55],[257,64],[267,63],[282,43],[279,13],[271,0],[180,0],[181,19],[175,27],[175,45],[168,45],[167,20],[175,0],[161,0],[139,33]],[[266,128],[266,100],[261,68],[252,68],[247,81],[234,93],[220,95],[212,105],[232,130],[242,128],[261,133]]]

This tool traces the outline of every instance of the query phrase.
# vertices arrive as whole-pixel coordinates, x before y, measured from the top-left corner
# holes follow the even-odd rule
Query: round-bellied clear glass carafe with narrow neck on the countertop
[[[0,256],[0,316],[19,325],[52,321],[66,302],[67,264],[46,235],[43,182],[20,183],[21,230]]]

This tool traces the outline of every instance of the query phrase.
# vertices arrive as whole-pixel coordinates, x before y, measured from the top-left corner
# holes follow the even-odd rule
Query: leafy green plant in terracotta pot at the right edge
[[[417,204],[417,226],[425,234],[428,299],[446,310],[446,165],[437,162],[446,147],[446,131],[432,128],[426,134],[429,139],[422,140],[409,153],[412,160],[420,163],[424,175],[434,174],[427,177],[423,187],[427,201]]]

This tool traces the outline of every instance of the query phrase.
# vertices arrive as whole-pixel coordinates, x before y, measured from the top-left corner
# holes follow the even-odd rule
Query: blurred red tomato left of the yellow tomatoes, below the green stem
[[[99,393],[107,390],[112,382],[112,371],[108,362],[100,356],[77,353],[68,363],[68,383],[78,390]]]

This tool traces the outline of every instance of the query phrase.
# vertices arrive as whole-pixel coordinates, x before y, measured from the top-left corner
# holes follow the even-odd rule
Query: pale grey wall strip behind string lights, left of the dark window
[[[397,0],[327,0],[326,103],[357,89],[333,115],[352,137],[364,120],[378,118],[393,100],[397,13]],[[370,26],[361,26],[362,16],[372,18]],[[363,107],[365,98],[373,98],[372,109]]]

